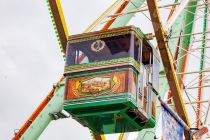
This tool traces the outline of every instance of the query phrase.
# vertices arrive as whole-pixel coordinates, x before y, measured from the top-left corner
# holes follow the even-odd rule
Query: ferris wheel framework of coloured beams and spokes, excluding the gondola
[[[47,0],[47,5],[61,52],[65,57],[69,34],[62,5],[60,0]],[[209,13],[210,0],[116,0],[84,32],[135,25],[144,33],[148,33],[148,38],[157,46],[156,48],[162,57],[163,66],[159,76],[159,95],[190,128],[209,128]],[[163,53],[164,49],[167,50],[165,54]],[[170,63],[165,58],[170,58]],[[61,78],[17,132],[14,140],[37,139],[52,120],[68,117],[68,114],[62,114],[63,81],[64,79]],[[177,85],[173,87],[172,83],[177,83]],[[114,134],[115,137],[118,137],[119,140],[161,139],[162,113],[158,101],[156,108],[158,119],[155,128],[120,135]],[[42,123],[40,123],[41,121]],[[38,124],[39,127],[37,127]],[[90,133],[93,139],[106,139],[104,135],[97,135],[92,131]],[[190,139],[187,132],[184,133],[184,136],[186,139]],[[210,138],[210,133],[201,137],[201,139],[207,138]]]

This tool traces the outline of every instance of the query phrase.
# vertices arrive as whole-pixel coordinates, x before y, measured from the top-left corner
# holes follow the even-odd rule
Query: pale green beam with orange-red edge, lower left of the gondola
[[[36,140],[47,125],[53,120],[50,113],[62,110],[64,98],[63,78],[55,85],[49,95],[42,101],[38,108],[21,127],[13,140]]]

